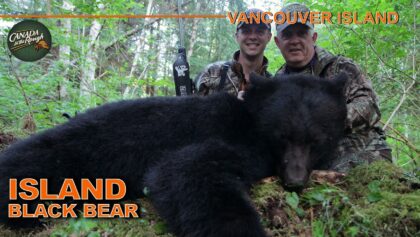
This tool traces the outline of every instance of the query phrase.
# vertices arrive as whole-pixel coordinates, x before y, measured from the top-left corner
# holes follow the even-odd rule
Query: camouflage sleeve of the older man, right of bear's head
[[[349,76],[345,95],[347,98],[347,129],[365,130],[373,127],[380,119],[378,101],[371,82],[350,59],[339,58],[336,70]]]

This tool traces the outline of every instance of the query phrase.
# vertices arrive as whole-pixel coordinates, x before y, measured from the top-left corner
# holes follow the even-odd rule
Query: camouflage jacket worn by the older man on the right
[[[314,58],[304,69],[294,72],[283,65],[276,75],[304,73],[333,79],[340,72],[347,73],[350,80],[345,88],[347,99],[346,131],[348,132],[346,137],[339,142],[339,156],[369,151],[376,152],[376,155],[379,154],[382,158],[390,160],[390,149],[385,142],[384,131],[378,126],[381,118],[378,99],[371,82],[365,78],[353,61],[342,56],[334,56],[316,46]],[[383,150],[388,152],[380,152]],[[372,155],[368,156],[372,158]],[[369,158],[367,159],[369,161]]]

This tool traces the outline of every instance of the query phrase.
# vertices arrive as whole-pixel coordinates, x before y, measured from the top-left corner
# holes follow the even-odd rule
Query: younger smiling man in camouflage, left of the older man
[[[248,18],[251,13],[261,14],[259,9],[245,11]],[[246,24],[240,22],[236,27],[235,39],[239,50],[233,59],[227,62],[216,62],[208,65],[196,78],[199,95],[209,95],[217,91],[227,91],[238,95],[249,84],[249,75],[256,72],[271,77],[267,71],[268,60],[264,50],[271,39],[269,24]]]

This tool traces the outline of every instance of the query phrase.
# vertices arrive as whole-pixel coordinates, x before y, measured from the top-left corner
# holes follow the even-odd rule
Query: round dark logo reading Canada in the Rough
[[[42,23],[24,20],[10,30],[7,46],[16,58],[33,62],[43,58],[50,51],[51,34]]]

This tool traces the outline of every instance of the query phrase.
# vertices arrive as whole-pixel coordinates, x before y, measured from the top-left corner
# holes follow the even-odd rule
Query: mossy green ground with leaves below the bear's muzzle
[[[308,235],[308,229],[312,236],[416,236],[419,184],[415,175],[380,161],[352,169],[341,183],[311,184],[300,195],[264,183],[253,189],[253,200],[279,236]]]

